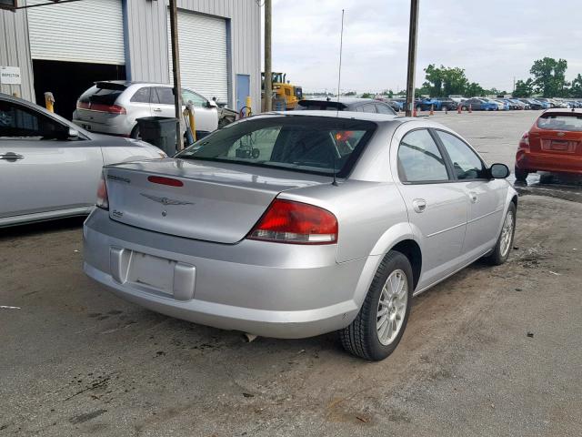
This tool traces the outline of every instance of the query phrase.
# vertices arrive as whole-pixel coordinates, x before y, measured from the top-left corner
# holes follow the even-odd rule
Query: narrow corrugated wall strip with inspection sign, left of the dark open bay
[[[0,11],[0,66],[19,66],[21,85],[0,85],[0,92],[35,100],[33,62],[28,45],[26,11]]]

